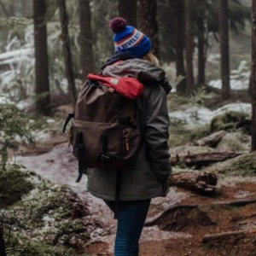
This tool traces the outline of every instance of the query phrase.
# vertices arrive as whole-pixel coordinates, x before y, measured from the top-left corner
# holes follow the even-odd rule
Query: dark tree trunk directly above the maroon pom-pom
[[[119,0],[119,16],[137,27],[137,0]]]

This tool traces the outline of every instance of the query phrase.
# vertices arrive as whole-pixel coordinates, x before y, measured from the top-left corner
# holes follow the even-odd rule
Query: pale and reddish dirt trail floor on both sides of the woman
[[[104,234],[94,237],[81,253],[113,255],[113,214],[102,201],[89,195],[85,189],[85,177],[85,181],[75,185],[77,163],[72,158],[61,157],[63,150],[68,150],[67,143],[63,141],[63,136],[49,138],[38,144],[39,149],[35,149],[35,154],[31,150],[25,151],[22,156],[17,155],[15,160],[54,183],[69,185],[84,203],[90,205],[91,215],[105,222]],[[47,144],[47,149],[44,154],[38,154],[40,148],[45,148],[44,144]],[[176,204],[179,207],[167,212],[154,226],[143,229],[140,255],[256,255],[256,201],[250,201],[253,199],[256,199],[254,177],[241,177],[241,180],[236,177],[236,182],[231,183],[228,177],[218,179],[216,193],[208,196],[173,187],[166,199],[152,201],[147,221],[168,207]],[[222,204],[230,201],[249,203],[241,203],[241,206]],[[222,233],[227,234],[203,241],[206,239],[204,236]]]

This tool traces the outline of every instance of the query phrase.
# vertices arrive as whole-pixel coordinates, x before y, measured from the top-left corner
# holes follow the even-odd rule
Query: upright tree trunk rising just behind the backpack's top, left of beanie
[[[80,22],[80,63],[82,67],[82,78],[94,71],[92,32],[90,23],[90,0],[79,0],[79,22]]]

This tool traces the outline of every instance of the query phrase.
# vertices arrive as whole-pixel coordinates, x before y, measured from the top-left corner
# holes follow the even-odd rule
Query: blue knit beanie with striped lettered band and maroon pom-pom
[[[127,26],[125,19],[116,17],[110,20],[109,27],[114,32],[115,53],[128,51],[137,58],[141,58],[151,49],[149,38],[134,26]]]

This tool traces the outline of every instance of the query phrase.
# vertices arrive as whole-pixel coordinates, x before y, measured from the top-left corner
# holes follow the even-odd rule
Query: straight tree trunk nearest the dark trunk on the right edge
[[[219,0],[220,68],[223,99],[230,98],[229,0]]]

